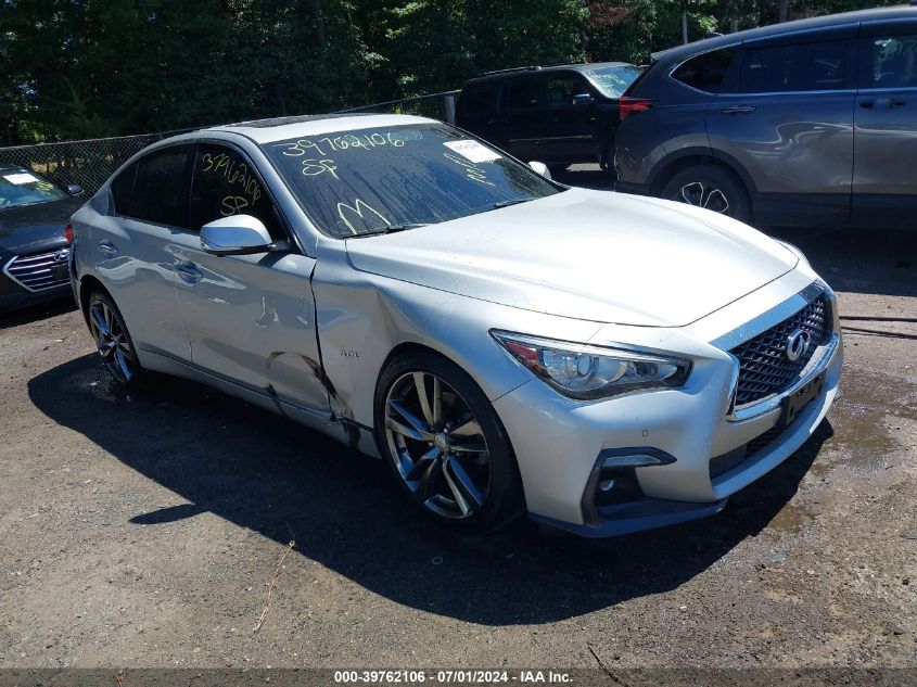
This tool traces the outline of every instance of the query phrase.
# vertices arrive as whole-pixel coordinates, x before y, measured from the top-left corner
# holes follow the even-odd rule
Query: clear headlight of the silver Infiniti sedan
[[[679,386],[691,369],[688,360],[679,358],[496,330],[491,335],[513,358],[572,398],[603,398],[636,389]]]

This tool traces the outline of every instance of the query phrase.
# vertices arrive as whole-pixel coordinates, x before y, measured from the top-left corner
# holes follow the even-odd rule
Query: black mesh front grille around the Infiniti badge
[[[827,332],[827,307],[820,296],[754,339],[733,348],[739,359],[735,406],[740,407],[786,390],[805,368]],[[808,349],[797,360],[787,356],[787,341],[797,330],[810,335]]]

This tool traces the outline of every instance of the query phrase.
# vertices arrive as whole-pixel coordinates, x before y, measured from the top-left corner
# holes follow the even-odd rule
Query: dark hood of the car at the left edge
[[[30,253],[64,242],[64,226],[85,199],[0,209],[0,251]]]

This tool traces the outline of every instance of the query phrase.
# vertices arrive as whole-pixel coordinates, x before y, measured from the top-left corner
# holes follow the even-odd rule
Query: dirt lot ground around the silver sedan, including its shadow
[[[119,393],[66,304],[0,316],[0,666],[917,667],[917,231],[781,236],[843,396],[722,514],[598,542],[447,536],[278,417]]]

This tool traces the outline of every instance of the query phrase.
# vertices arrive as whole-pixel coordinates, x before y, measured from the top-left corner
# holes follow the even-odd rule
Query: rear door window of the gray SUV
[[[846,84],[844,40],[752,48],[742,62],[741,91],[824,91]]]

